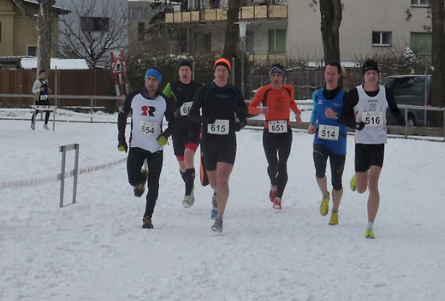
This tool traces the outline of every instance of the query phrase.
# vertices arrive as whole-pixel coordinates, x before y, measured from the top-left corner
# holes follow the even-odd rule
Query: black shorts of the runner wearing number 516
[[[383,167],[385,144],[355,144],[355,172],[366,172],[371,166]]]

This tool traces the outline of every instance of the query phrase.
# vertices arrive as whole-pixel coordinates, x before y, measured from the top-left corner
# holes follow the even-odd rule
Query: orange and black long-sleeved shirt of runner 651
[[[281,89],[274,89],[272,85],[262,86],[257,90],[255,97],[249,104],[249,113],[257,115],[260,112],[258,105],[264,101],[264,95],[267,92],[266,103],[263,103],[263,107],[268,107],[269,111],[266,113],[266,122],[264,127],[269,128],[268,121],[271,120],[286,120],[286,123],[290,125],[290,110],[295,114],[300,114],[294,101],[294,86],[283,85]]]

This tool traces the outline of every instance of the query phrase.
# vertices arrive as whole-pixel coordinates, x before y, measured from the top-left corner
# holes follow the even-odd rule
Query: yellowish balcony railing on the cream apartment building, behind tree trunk
[[[272,0],[270,5],[245,1],[238,18],[243,21],[267,18],[288,18],[287,0]],[[187,12],[167,12],[166,23],[216,22],[227,20],[226,5],[211,5]]]

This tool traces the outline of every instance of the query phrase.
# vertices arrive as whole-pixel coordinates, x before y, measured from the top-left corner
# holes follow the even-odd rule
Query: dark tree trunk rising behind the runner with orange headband
[[[229,5],[227,9],[227,25],[224,40],[224,51],[223,57],[231,59],[236,57],[238,50],[238,38],[240,37],[238,25],[238,14],[240,13],[241,1],[239,0],[229,0]]]

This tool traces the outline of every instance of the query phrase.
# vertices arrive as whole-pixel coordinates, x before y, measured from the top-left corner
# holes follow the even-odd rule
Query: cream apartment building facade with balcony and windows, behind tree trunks
[[[240,21],[247,21],[246,52],[260,62],[323,57],[320,10],[310,0],[243,0]],[[342,61],[401,52],[431,54],[428,0],[342,0]],[[411,18],[407,21],[407,12]],[[167,12],[168,25],[183,30],[186,52],[221,52],[224,47],[227,0],[189,0],[188,7]]]

